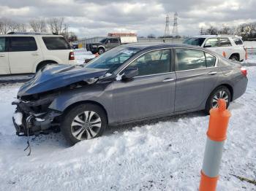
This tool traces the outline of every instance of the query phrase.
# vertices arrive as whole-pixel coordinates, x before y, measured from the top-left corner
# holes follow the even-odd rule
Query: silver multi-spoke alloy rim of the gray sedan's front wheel
[[[71,133],[75,139],[93,139],[102,127],[102,120],[99,114],[93,111],[85,111],[72,120]]]

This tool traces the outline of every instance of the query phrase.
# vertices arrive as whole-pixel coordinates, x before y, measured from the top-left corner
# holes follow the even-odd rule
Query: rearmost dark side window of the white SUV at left
[[[63,37],[45,36],[42,37],[48,50],[69,50],[71,46]]]

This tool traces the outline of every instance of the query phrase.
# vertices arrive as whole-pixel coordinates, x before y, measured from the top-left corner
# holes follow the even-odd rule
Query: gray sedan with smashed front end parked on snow
[[[227,106],[246,90],[246,69],[200,47],[126,44],[85,66],[49,65],[18,91],[18,136],[59,131],[70,144],[119,125]]]

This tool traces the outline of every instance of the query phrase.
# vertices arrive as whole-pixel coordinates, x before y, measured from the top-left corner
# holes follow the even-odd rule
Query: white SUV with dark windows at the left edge
[[[75,64],[74,52],[61,35],[0,35],[0,75],[35,73],[49,63]]]

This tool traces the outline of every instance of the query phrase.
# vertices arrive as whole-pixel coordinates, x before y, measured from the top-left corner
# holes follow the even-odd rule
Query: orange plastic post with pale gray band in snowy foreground
[[[218,108],[211,109],[210,111],[209,126],[206,133],[208,138],[206,141],[199,191],[215,191],[217,187],[219,164],[223,149],[221,142],[224,142],[227,138],[227,125],[231,116],[226,108],[226,101],[219,99]]]

